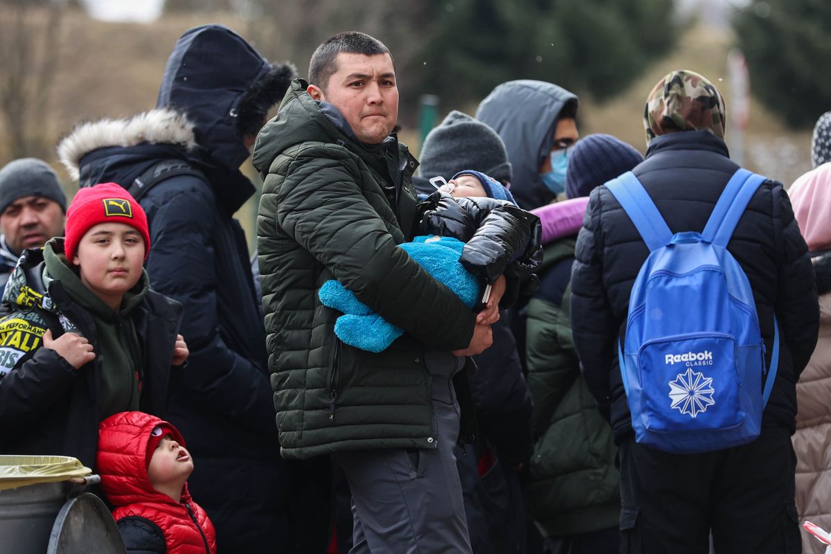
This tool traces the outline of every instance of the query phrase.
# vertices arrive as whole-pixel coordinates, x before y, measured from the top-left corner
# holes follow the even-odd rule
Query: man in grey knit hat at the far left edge
[[[22,158],[0,169],[0,286],[26,248],[63,234],[66,194],[45,161]]]

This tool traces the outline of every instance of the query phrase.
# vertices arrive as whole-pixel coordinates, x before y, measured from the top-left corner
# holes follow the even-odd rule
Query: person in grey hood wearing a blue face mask
[[[578,97],[545,81],[508,81],[479,104],[476,119],[502,138],[520,208],[553,202],[565,190],[568,148],[580,138]]]

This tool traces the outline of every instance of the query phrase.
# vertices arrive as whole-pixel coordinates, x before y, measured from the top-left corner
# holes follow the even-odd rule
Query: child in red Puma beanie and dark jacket
[[[117,184],[78,191],[66,238],[23,252],[2,302],[0,453],[95,462],[98,424],[164,413],[188,348],[182,308],[150,289],[147,218]]]

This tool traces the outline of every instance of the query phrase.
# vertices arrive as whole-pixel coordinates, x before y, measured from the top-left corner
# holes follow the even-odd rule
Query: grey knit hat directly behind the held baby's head
[[[498,181],[511,180],[508,152],[496,131],[456,110],[427,135],[419,162],[421,176],[427,179],[475,169]]]

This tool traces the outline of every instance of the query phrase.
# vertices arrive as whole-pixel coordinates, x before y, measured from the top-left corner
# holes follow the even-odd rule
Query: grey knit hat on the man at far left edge
[[[15,159],[0,169],[0,213],[24,196],[54,200],[66,213],[66,193],[61,189],[57,174],[42,159]]]

